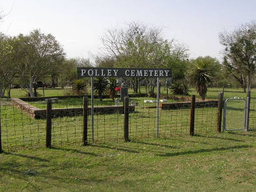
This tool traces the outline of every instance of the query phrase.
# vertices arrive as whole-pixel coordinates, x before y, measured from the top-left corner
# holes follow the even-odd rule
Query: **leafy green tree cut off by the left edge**
[[[0,97],[4,97],[6,89],[17,74],[17,65],[14,62],[14,48],[12,38],[0,33]]]

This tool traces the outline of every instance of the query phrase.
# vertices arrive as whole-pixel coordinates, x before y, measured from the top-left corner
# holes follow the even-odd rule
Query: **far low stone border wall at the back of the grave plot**
[[[129,97],[147,97],[147,94],[129,94]],[[91,95],[69,95],[69,96],[52,96],[52,97],[19,97],[19,99],[25,102],[35,102],[39,100],[46,100],[46,98],[82,98],[88,97],[91,98]],[[120,95],[116,95],[116,97],[120,97]],[[99,95],[94,95],[94,98],[99,98]],[[102,95],[102,98],[109,98],[109,95]]]

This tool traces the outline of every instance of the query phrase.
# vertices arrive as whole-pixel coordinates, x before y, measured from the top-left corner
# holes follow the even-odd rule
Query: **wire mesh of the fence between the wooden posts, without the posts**
[[[190,103],[176,100],[170,108],[159,111],[157,134],[157,105],[135,100],[129,113],[129,139],[142,140],[159,135],[160,138],[188,136],[190,134]],[[115,106],[111,99],[94,100],[94,126],[92,130],[91,100],[87,101],[87,143],[124,140],[124,107]],[[82,98],[70,98],[52,102],[52,147],[82,145],[83,135]],[[46,102],[24,102],[18,105],[10,100],[1,101],[1,142],[3,150],[41,148],[46,145]],[[250,128],[255,128],[255,98],[251,100]],[[195,106],[194,133],[214,134],[217,127],[217,106],[205,103]],[[93,137],[92,137],[93,136]]]

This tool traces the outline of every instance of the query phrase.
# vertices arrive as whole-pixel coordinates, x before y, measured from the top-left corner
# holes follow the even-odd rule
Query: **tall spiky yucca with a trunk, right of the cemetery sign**
[[[195,81],[195,90],[199,93],[202,100],[205,100],[207,84],[213,78],[213,72],[208,60],[197,59],[193,62],[191,77]]]

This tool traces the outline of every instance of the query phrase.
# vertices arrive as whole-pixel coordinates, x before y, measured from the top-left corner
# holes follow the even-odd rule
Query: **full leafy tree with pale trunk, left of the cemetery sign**
[[[42,75],[49,72],[57,60],[64,58],[64,51],[59,42],[51,34],[44,34],[38,29],[32,31],[29,36],[20,34],[19,41],[20,62],[19,75],[24,88],[29,95],[34,97],[32,88]]]

